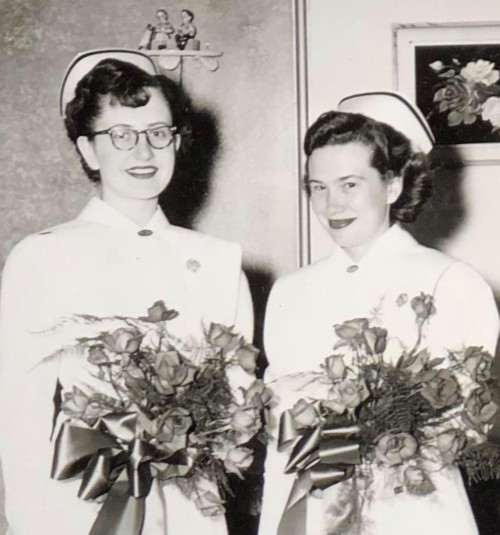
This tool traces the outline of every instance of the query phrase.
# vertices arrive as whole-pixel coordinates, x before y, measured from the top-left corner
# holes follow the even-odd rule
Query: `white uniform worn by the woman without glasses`
[[[270,363],[266,382],[275,394],[270,426],[274,437],[283,410],[308,395],[321,398],[326,394],[315,384],[309,385],[308,391],[303,381],[294,383],[291,378],[283,378],[320,371],[324,359],[335,353],[335,324],[354,318],[371,319],[388,330],[393,338],[388,347],[392,346],[392,356],[397,358],[401,349],[397,341],[408,348],[416,341],[410,300],[421,292],[434,296],[436,313],[423,340],[423,347],[427,346],[433,355],[466,345],[495,351],[499,320],[489,286],[471,267],[421,246],[399,225],[387,230],[360,262],[353,262],[335,246],[331,256],[280,278],[268,302],[264,332]],[[387,353],[391,358],[391,352]],[[278,453],[275,440],[268,446],[260,535],[276,535],[294,480],[294,474],[284,474],[289,453]],[[452,472],[441,478],[438,492],[429,497],[408,498],[403,494],[386,501],[387,506],[380,500],[381,507],[372,510],[373,528],[366,533],[477,533],[460,474],[458,470]],[[335,494],[333,490],[324,495],[329,492]],[[327,502],[327,498],[308,498],[307,535],[327,533]]]

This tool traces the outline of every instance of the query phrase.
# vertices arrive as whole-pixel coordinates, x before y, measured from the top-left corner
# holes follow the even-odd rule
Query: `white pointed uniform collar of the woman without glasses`
[[[374,264],[390,262],[391,256],[395,253],[407,250],[415,245],[418,245],[418,242],[410,233],[401,228],[398,223],[395,223],[372,244],[358,262],[352,260],[342,247],[336,243],[333,244],[330,260],[341,268],[347,269],[349,266],[365,268]]]

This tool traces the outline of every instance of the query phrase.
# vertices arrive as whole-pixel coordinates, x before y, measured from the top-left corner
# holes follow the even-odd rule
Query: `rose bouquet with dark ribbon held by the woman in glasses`
[[[257,349],[215,323],[201,343],[186,343],[168,332],[177,316],[157,301],[145,317],[113,317],[122,326],[78,340],[104,387],[64,394],[52,477],[81,475],[81,498],[105,497],[93,534],[114,533],[117,509],[138,511],[130,533],[140,533],[153,478],[177,484],[203,514],[222,514],[227,473],[242,477],[252,464],[248,443],[269,394],[260,380],[238,389],[230,377],[254,375]]]

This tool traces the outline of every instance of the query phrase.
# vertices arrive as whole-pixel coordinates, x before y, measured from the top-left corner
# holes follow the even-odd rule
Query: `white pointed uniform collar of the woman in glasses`
[[[168,219],[159,206],[149,222],[144,226],[139,226],[99,197],[92,197],[77,219],[131,231],[140,229],[159,231],[170,227]]]

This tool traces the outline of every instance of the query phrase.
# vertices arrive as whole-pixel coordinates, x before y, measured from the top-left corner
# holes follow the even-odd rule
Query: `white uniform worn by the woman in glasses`
[[[157,300],[180,313],[169,322],[177,336],[199,338],[203,325],[218,322],[235,325],[251,341],[240,247],[172,226],[160,209],[141,228],[93,198],[75,220],[13,249],[0,305],[0,445],[9,534],[86,535],[98,508],[77,498],[78,482],[49,478],[56,379],[67,389],[82,379],[69,356],[44,360],[81,334],[71,322],[54,326],[74,314],[142,316]],[[158,496],[148,496],[143,533],[227,533],[224,518],[203,517],[175,489],[166,500],[156,490]]]

